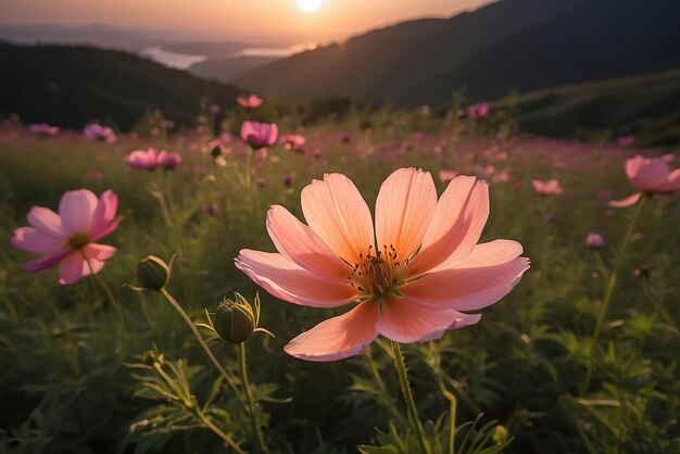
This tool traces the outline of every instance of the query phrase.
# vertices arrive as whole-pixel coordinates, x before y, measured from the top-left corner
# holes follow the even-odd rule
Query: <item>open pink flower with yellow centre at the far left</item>
[[[118,197],[104,191],[99,200],[91,191],[67,191],[59,202],[59,214],[50,209],[34,206],[26,216],[30,227],[14,230],[12,244],[28,252],[42,254],[24,269],[40,272],[61,264],[59,281],[62,285],[77,282],[104,266],[116,249],[98,244],[97,241],[116,229]],[[89,265],[88,263],[89,262]]]

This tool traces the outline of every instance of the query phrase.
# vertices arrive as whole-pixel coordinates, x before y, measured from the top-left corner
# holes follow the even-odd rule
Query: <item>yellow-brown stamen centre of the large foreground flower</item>
[[[362,292],[360,299],[386,297],[398,293],[408,258],[401,263],[392,244],[383,245],[381,251],[369,245],[366,254],[358,254],[358,263],[354,264],[349,279]]]

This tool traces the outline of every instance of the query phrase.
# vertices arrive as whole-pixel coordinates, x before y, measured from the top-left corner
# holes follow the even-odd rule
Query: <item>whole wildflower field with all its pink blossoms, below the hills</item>
[[[4,121],[1,453],[680,452],[676,150],[242,101]]]

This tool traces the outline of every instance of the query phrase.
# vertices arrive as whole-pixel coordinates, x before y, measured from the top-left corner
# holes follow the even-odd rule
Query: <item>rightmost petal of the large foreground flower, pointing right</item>
[[[478,244],[455,268],[430,273],[400,291],[427,308],[479,310],[509,293],[529,269],[529,258],[519,254],[521,245],[516,241]]]

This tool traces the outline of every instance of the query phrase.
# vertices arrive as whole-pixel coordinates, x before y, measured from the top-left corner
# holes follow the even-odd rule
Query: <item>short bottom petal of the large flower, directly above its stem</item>
[[[480,318],[481,314],[463,314],[451,308],[435,311],[406,298],[392,297],[382,303],[376,329],[396,342],[427,342],[441,338],[450,329],[475,325]]]

